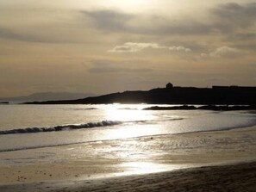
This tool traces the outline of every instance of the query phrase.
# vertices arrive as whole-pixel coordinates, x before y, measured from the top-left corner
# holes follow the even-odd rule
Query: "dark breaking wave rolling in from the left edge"
[[[41,132],[59,132],[72,129],[83,129],[93,127],[109,127],[122,124],[122,121],[100,121],[100,122],[89,122],[80,125],[65,125],[56,127],[28,127],[28,128],[17,128],[12,130],[0,131],[1,134],[16,134],[16,133],[41,133]]]

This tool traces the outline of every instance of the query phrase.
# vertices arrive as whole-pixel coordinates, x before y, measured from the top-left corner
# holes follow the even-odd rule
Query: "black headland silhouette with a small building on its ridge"
[[[255,105],[256,87],[213,86],[212,88],[174,87],[153,90],[134,90],[103,96],[68,101],[26,102],[27,104],[200,104],[200,105]]]

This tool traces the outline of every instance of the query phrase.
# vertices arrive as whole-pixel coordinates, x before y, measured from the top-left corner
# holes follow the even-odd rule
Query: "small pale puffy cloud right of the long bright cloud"
[[[211,58],[220,58],[220,57],[233,57],[237,56],[240,53],[240,50],[237,48],[232,48],[229,46],[221,46],[216,48],[211,53],[202,53],[201,57],[211,57]]]

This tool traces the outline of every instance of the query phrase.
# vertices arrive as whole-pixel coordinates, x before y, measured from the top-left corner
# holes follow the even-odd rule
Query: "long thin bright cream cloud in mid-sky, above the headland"
[[[146,48],[152,49],[168,49],[170,51],[176,52],[191,52],[190,48],[184,46],[160,46],[158,43],[136,43],[136,42],[126,42],[121,46],[115,46],[113,49],[110,49],[110,53],[137,53],[141,52]]]

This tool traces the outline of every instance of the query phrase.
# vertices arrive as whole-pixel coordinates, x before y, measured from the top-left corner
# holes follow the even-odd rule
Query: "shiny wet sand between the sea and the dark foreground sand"
[[[41,183],[53,189],[58,183],[147,177],[189,167],[256,162],[256,126],[1,152],[0,159],[9,163],[0,164],[0,189]]]

